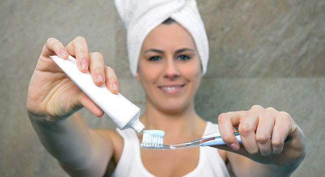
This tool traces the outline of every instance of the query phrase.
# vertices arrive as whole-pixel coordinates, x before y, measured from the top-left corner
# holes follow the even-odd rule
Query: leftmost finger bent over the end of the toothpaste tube
[[[68,52],[63,44],[53,37],[47,39],[40,55],[45,58],[48,58],[48,56],[57,55],[62,59],[68,59]]]

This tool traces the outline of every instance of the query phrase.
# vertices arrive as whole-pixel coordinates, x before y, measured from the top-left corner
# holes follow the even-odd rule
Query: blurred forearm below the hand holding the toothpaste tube
[[[113,153],[112,145],[88,129],[77,113],[55,122],[32,114],[29,117],[43,146],[69,175],[103,176]]]

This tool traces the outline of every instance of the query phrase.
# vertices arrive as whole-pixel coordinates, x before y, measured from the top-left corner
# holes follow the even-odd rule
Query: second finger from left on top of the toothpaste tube
[[[89,67],[89,53],[86,39],[81,36],[74,38],[67,45],[67,51],[70,55],[75,56],[78,69],[86,72]]]

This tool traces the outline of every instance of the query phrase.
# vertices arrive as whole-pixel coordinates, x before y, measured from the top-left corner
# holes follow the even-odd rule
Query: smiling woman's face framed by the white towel
[[[192,36],[178,23],[161,24],[144,39],[137,79],[158,110],[178,113],[193,106],[201,74]]]

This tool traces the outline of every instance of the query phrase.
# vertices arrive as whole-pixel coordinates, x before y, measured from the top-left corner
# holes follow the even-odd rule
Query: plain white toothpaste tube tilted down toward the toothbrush
[[[90,71],[79,71],[72,56],[69,56],[68,59],[61,59],[58,56],[50,57],[111,118],[120,130],[132,128],[140,133],[144,129],[144,125],[139,120],[140,108],[120,93],[111,93],[105,84],[96,86],[92,81]]]

